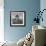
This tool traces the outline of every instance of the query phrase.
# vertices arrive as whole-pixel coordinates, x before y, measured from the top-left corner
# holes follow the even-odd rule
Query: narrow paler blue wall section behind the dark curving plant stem
[[[43,9],[46,9],[46,0],[41,0],[40,1],[40,10],[42,11]],[[46,27],[46,11],[43,12],[43,22],[40,22],[40,25]]]

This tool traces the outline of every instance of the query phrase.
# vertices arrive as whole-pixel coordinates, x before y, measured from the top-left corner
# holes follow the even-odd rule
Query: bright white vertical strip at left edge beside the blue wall
[[[0,0],[0,42],[4,41],[4,0]]]

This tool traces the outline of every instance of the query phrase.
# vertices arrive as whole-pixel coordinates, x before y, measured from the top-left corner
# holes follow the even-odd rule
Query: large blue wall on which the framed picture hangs
[[[4,38],[8,41],[17,41],[24,37],[31,28],[32,20],[40,9],[40,0],[4,0]],[[25,10],[26,26],[10,27],[10,11]]]

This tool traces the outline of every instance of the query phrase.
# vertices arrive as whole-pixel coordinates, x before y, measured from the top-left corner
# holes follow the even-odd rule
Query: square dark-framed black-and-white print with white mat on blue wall
[[[25,26],[26,12],[25,11],[11,11],[10,12],[10,26]]]

